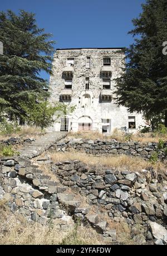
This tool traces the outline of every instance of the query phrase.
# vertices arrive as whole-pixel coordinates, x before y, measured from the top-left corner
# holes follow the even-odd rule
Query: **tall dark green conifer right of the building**
[[[116,100],[146,119],[164,115],[167,127],[167,0],[147,0],[139,18],[132,20],[134,44],[125,50],[127,64],[117,79]]]

